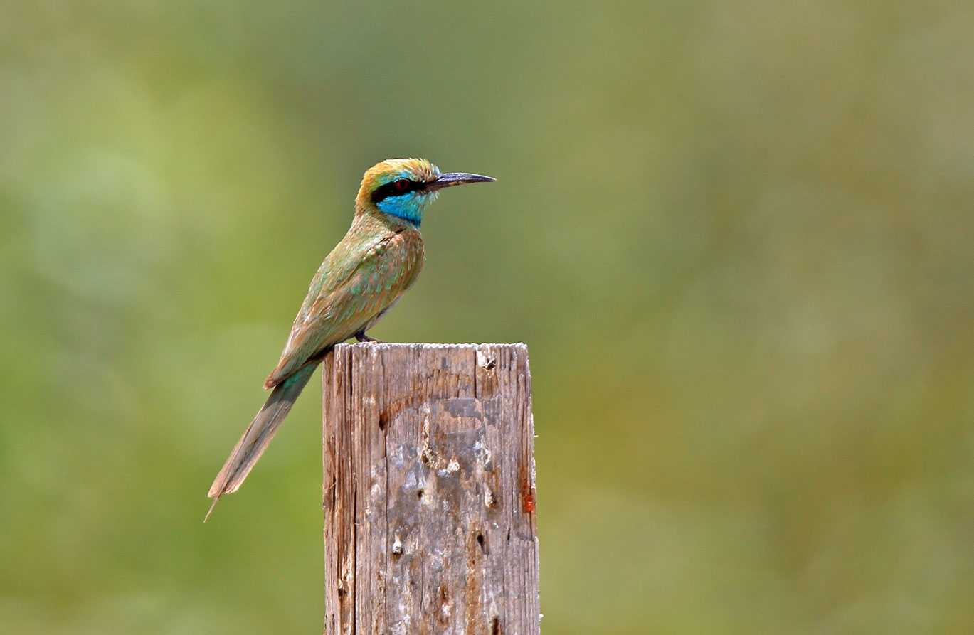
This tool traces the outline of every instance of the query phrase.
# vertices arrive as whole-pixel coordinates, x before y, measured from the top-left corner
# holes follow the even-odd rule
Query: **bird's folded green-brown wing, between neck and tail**
[[[264,382],[273,388],[328,347],[344,342],[416,280],[423,263],[419,232],[389,233],[328,254],[294,318],[278,367]]]

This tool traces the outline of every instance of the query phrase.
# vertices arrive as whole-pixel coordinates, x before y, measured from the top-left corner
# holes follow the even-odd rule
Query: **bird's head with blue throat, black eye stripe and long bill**
[[[426,159],[387,159],[365,172],[358,188],[356,208],[378,209],[419,227],[426,206],[444,187],[493,180],[490,176],[467,172],[441,173]]]

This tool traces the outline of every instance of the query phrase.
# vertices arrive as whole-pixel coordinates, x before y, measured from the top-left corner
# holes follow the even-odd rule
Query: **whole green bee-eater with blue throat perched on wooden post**
[[[236,492],[267,448],[281,421],[325,354],[353,337],[376,343],[366,331],[393,308],[423,267],[420,224],[439,191],[494,181],[468,172],[440,172],[426,159],[387,159],[365,171],[345,238],[325,256],[264,382],[273,389],[220,469],[204,522],[220,497]]]

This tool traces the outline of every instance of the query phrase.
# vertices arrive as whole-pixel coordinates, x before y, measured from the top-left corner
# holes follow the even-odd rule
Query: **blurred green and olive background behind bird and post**
[[[206,489],[387,157],[490,174],[373,334],[529,345],[543,631],[974,632],[969,0],[0,0],[0,624],[312,633],[318,380]]]

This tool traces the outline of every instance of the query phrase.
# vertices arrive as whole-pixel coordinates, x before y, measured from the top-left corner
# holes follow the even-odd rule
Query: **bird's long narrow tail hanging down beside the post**
[[[281,421],[290,412],[294,400],[298,398],[308,380],[318,367],[318,363],[308,363],[298,369],[293,375],[285,379],[275,387],[271,396],[267,397],[264,406],[253,418],[250,427],[244,432],[244,436],[237,441],[237,446],[230,453],[230,457],[223,465],[223,469],[216,475],[213,484],[209,486],[209,498],[213,499],[213,504],[209,505],[206,518],[220,500],[220,496],[236,492],[244,482],[244,478],[260,459],[267,444],[274,438],[274,433],[281,426]],[[203,522],[206,522],[206,518]]]

